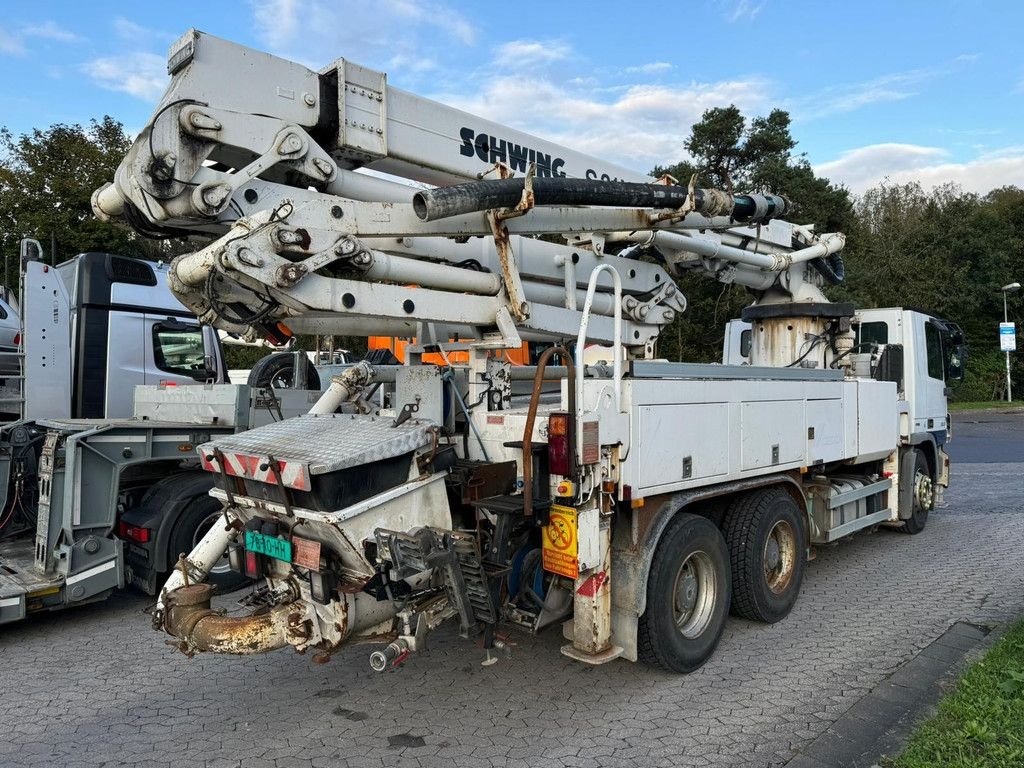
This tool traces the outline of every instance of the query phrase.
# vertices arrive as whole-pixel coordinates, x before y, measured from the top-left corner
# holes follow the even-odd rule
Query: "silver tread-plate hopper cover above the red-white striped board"
[[[271,455],[281,462],[300,462],[313,475],[391,459],[428,445],[433,439],[429,422],[410,419],[397,427],[381,416],[306,414],[247,432],[224,435],[201,451],[225,454]]]

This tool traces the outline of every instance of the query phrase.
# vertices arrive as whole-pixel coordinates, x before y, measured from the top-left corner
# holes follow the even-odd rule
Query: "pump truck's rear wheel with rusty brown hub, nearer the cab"
[[[785,490],[743,494],[725,518],[732,612],[774,624],[797,602],[807,559],[800,508]]]

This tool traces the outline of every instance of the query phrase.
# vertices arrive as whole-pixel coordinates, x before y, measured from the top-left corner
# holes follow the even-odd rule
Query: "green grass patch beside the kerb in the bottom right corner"
[[[1024,621],[972,665],[888,768],[1024,766]]]

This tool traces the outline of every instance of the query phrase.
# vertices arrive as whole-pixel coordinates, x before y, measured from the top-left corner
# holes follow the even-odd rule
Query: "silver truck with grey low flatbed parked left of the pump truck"
[[[3,310],[0,624],[129,584],[156,594],[219,515],[194,446],[318,394],[226,384],[216,332],[168,290],[166,264],[84,253],[54,266],[26,258],[41,255],[31,244],[22,322]],[[245,581],[225,563],[212,579]]]

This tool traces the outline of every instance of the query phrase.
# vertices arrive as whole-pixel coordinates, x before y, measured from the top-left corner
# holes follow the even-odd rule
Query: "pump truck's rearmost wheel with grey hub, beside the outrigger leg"
[[[728,615],[722,531],[703,517],[680,513],[662,535],[647,577],[639,657],[669,672],[692,672],[715,651]]]

